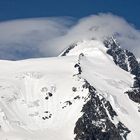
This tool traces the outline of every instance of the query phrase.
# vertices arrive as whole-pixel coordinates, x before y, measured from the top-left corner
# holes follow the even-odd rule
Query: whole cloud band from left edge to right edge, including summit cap
[[[71,43],[115,36],[123,48],[140,56],[140,31],[112,14],[73,18],[38,18],[0,23],[0,58],[57,56]]]

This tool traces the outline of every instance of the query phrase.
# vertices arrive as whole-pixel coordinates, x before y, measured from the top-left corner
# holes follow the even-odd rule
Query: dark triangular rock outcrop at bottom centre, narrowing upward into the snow
[[[78,63],[78,76],[82,72]],[[77,68],[77,67],[76,67]],[[79,71],[80,70],[80,71]],[[114,124],[117,117],[109,101],[100,95],[86,80],[83,88],[89,91],[89,100],[83,106],[83,115],[76,122],[75,140],[123,140],[130,130],[121,122]]]

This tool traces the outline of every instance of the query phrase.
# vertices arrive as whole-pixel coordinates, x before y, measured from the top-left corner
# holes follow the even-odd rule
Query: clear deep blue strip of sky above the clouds
[[[0,0],[0,21],[52,16],[81,18],[107,12],[140,29],[139,0]]]

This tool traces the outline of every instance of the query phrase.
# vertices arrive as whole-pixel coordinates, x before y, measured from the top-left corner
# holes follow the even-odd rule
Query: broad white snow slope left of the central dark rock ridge
[[[87,96],[86,90],[82,92],[82,81],[73,77],[74,60],[51,58],[0,62],[4,140],[7,133],[15,133],[15,130],[19,133],[28,131],[29,137],[33,134],[32,139],[38,140],[56,139],[56,136],[74,138],[73,128]],[[72,90],[73,87],[77,92]],[[78,95],[83,99],[74,99]]]

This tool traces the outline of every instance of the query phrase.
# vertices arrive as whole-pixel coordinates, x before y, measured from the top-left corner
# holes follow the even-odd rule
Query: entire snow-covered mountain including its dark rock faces
[[[1,140],[139,140],[140,67],[114,38],[0,66]]]

